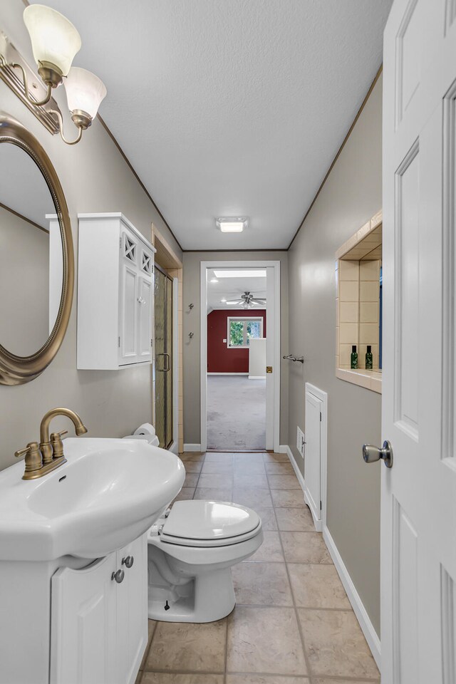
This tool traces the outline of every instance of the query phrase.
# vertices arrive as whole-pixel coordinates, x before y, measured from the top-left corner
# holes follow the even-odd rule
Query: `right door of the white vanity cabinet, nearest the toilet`
[[[118,591],[118,677],[134,684],[147,646],[147,535],[118,551],[118,567],[125,571]]]

